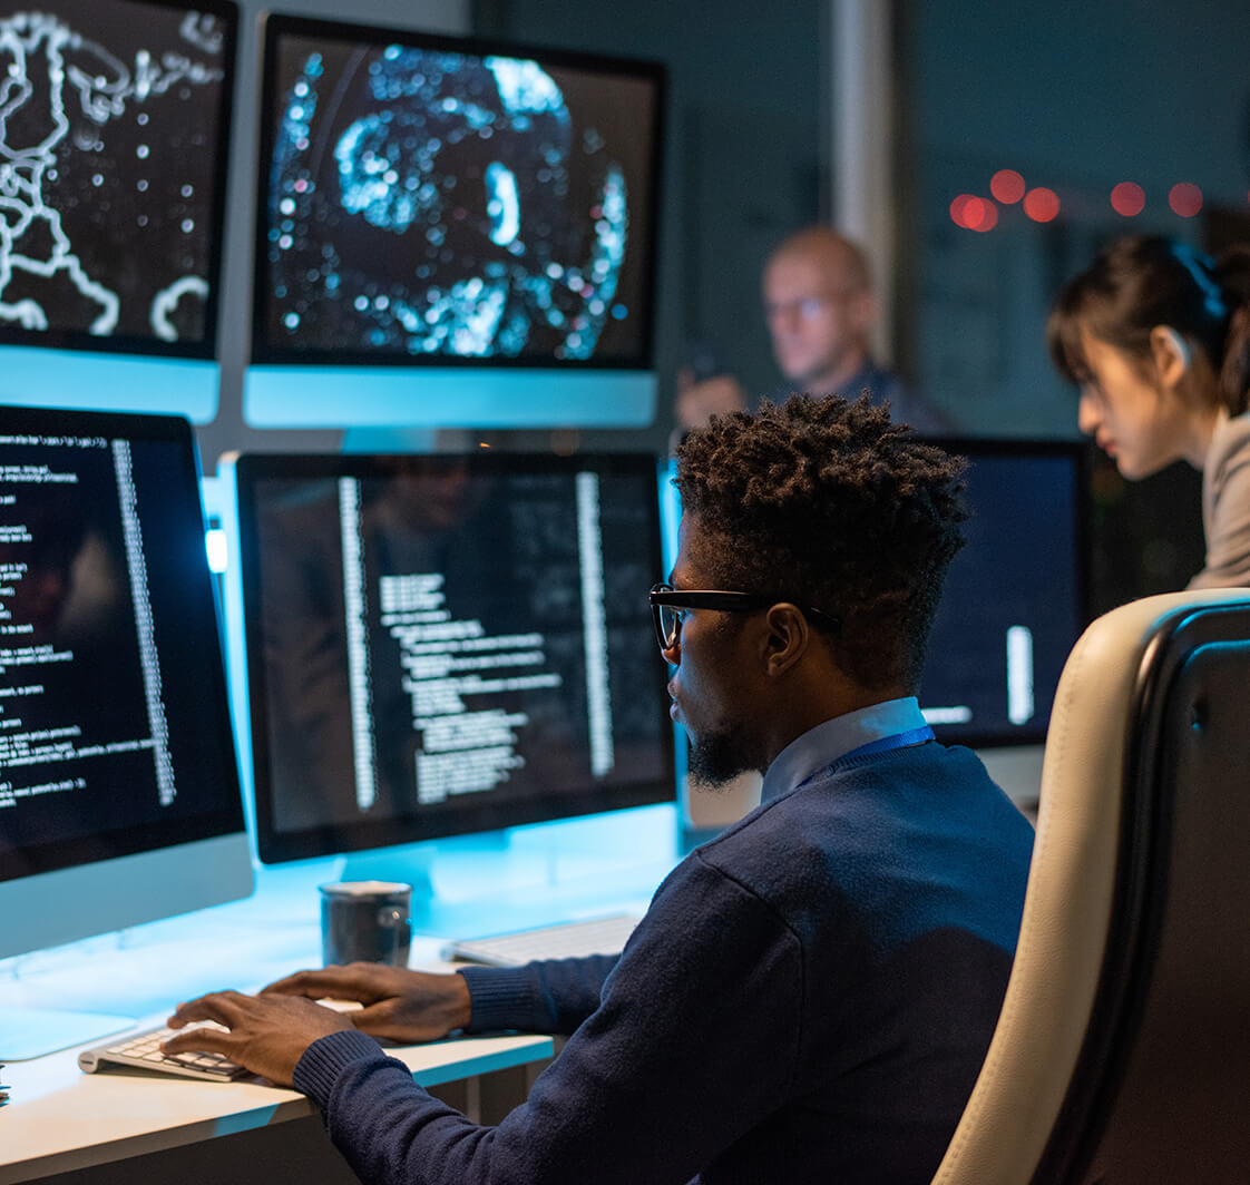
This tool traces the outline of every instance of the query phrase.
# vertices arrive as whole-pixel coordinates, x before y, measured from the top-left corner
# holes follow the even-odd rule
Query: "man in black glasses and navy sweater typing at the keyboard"
[[[678,465],[679,555],[650,594],[670,711],[705,781],[764,772],[761,805],[670,874],[619,959],[358,964],[174,1019],[231,1031],[171,1051],[310,1094],[366,1182],[921,1182],[955,1129],[1032,834],[914,698],[962,462],[866,401],[796,396],[716,418]],[[569,1041],[494,1128],[366,1036],[498,1029]]]

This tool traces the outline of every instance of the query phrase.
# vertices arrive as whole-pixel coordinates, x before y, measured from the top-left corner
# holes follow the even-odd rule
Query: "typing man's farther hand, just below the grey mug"
[[[312,1000],[358,1000],[346,1012],[361,1032],[401,1045],[436,1041],[469,1024],[469,986],[460,975],[432,975],[381,962],[296,971],[262,989],[262,999],[308,996]]]

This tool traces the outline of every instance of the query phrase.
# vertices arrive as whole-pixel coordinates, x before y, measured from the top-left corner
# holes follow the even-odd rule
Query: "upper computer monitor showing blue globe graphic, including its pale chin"
[[[278,15],[264,41],[251,422],[650,422],[659,65]]]

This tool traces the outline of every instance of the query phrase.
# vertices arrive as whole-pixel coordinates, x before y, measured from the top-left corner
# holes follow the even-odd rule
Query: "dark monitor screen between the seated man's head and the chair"
[[[920,705],[939,738],[1041,741],[1088,624],[1088,450],[1071,441],[934,441],[968,458],[968,542],[946,576]]]

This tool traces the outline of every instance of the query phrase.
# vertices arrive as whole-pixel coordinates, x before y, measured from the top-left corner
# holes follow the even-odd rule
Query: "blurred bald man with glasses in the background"
[[[890,404],[896,421],[922,435],[951,431],[948,419],[902,386],[896,374],[872,360],[869,338],[878,315],[862,249],[826,226],[809,226],[785,239],[764,265],[764,316],[772,356],[790,391],[858,398]],[[678,376],[678,421],[701,428],[722,411],[754,410],[732,375],[701,382]]]

